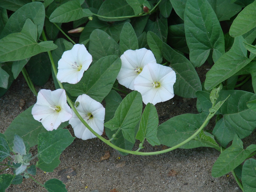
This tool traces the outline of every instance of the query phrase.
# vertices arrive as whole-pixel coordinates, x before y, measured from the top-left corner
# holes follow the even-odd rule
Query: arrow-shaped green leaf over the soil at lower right
[[[223,151],[213,164],[212,176],[220,177],[232,171],[255,150],[254,144],[244,149],[243,142],[235,135],[232,145]]]

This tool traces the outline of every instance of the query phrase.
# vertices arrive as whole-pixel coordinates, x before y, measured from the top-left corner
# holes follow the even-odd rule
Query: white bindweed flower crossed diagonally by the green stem
[[[105,108],[101,103],[95,101],[86,94],[79,95],[75,103],[79,102],[76,110],[86,123],[99,135],[104,130]],[[86,128],[86,126],[78,119],[73,111],[73,117],[69,120],[69,124],[74,129],[77,138],[86,140],[95,138],[96,136]]]

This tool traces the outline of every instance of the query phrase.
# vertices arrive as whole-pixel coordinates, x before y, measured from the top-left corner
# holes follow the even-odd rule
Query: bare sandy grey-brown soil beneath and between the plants
[[[200,67],[198,73],[200,79],[205,79],[207,68]],[[200,70],[200,71],[199,71]],[[40,89],[54,90],[52,78],[49,79]],[[25,106],[20,107],[21,99],[25,100]],[[3,133],[10,125],[11,121],[29,106],[36,103],[36,97],[31,93],[22,75],[13,82],[8,92],[0,98],[0,131]],[[156,104],[159,114],[159,124],[171,117],[184,113],[198,113],[196,110],[196,99],[184,99],[177,95],[164,103]],[[209,123],[207,129],[213,129],[214,124]],[[74,136],[73,129],[67,129]],[[255,131],[251,136],[244,139],[244,145],[248,145],[255,140]],[[141,151],[161,150],[165,146],[152,147],[145,142],[145,148]],[[135,145],[135,150],[138,143]],[[110,158],[101,162],[100,157],[110,152]],[[37,153],[36,147],[31,149],[31,153]],[[116,189],[119,192],[155,192],[155,191],[237,191],[240,188],[236,184],[232,173],[228,173],[219,178],[211,176],[214,162],[219,156],[219,151],[213,148],[176,149],[174,151],[154,156],[122,156],[98,138],[81,140],[76,138],[74,142],[66,148],[60,156],[60,165],[54,172],[48,174],[37,168],[34,178],[40,183],[45,183],[51,178],[58,178],[58,172],[72,167],[76,175],[69,174],[66,188],[69,192],[84,192],[98,189],[100,192],[109,192]],[[118,159],[120,157],[120,159]],[[32,164],[36,163],[35,161]],[[95,160],[95,161],[93,161]],[[4,167],[0,166],[0,170]],[[11,173],[11,170],[2,173]],[[67,176],[65,176],[67,177]],[[23,179],[20,185],[11,185],[7,192],[39,192],[47,191],[31,179]],[[114,190],[113,190],[114,191]]]

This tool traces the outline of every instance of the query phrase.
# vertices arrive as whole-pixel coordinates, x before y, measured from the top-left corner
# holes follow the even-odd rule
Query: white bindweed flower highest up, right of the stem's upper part
[[[75,44],[71,50],[65,51],[58,62],[57,79],[63,83],[76,84],[92,62],[92,55],[83,44]]]

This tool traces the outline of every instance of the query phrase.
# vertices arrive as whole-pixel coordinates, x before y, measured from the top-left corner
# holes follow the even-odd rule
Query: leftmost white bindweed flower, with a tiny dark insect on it
[[[55,91],[41,89],[31,113],[47,131],[57,129],[62,122],[68,121],[72,117],[64,89]]]

